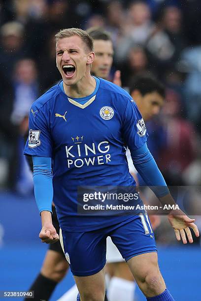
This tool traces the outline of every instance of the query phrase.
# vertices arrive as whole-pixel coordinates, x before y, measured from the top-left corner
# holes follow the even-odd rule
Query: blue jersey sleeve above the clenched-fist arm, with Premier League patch
[[[29,115],[29,135],[24,154],[52,157],[52,139],[49,130],[48,114],[44,108],[32,106]]]

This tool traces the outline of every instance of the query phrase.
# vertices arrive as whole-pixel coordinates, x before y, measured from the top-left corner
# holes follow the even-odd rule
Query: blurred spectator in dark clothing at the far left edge
[[[0,144],[2,151],[0,156],[4,157],[5,160],[2,164],[7,166],[8,170],[7,173],[4,173],[4,178],[7,180],[8,186],[13,187],[16,180],[19,127],[11,121],[14,104],[14,89],[11,78],[16,61],[26,54],[23,42],[24,28],[18,22],[8,22],[0,28],[0,35]]]

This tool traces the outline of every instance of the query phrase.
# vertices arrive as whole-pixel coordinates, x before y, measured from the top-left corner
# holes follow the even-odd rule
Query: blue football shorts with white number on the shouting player
[[[122,257],[157,252],[154,233],[146,213],[110,227],[89,232],[60,229],[60,241],[74,276],[89,276],[102,270],[106,263],[106,238],[110,236]]]

